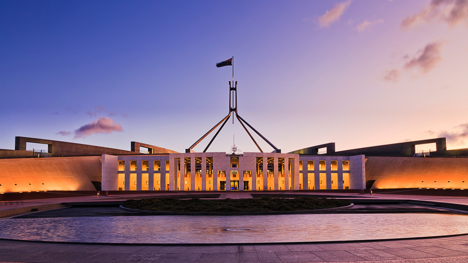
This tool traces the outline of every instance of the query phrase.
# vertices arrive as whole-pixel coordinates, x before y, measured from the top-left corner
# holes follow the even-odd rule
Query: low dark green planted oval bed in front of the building
[[[141,200],[127,200],[123,206],[132,209],[170,212],[270,212],[300,211],[335,208],[350,205],[348,200],[334,198],[245,198],[212,199],[191,198],[181,200],[174,197],[160,197]]]

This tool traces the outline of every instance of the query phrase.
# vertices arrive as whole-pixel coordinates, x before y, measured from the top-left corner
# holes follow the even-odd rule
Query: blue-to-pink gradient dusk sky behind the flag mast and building
[[[445,2],[442,11],[453,7]],[[215,64],[231,56],[239,114],[283,152],[438,136],[466,148],[468,14],[453,22],[438,9],[421,13],[430,3],[1,1],[0,148],[26,136],[183,152],[227,115],[231,67]],[[99,117],[123,131],[73,137]],[[228,151],[233,134],[242,151],[258,151],[237,121],[209,151]]]

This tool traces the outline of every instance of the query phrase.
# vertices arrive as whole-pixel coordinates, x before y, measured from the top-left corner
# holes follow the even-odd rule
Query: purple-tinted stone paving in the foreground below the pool
[[[468,235],[356,243],[278,245],[82,245],[0,240],[0,262],[31,263],[458,263]]]

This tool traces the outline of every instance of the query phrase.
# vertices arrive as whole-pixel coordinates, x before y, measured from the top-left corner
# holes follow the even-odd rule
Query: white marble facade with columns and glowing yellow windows
[[[230,190],[231,185],[231,171],[237,171],[239,190],[244,189],[243,178],[244,171],[250,171],[252,179],[250,180],[249,190],[261,189],[267,190],[307,190],[307,189],[321,189],[320,188],[320,174],[323,178],[326,178],[326,189],[332,189],[332,181],[334,182],[333,189],[344,189],[343,186],[343,174],[349,175],[349,189],[365,189],[366,185],[366,174],[365,174],[365,158],[364,155],[357,156],[321,156],[321,155],[299,155],[294,153],[243,153],[237,155],[239,162],[237,167],[231,165],[231,155],[226,153],[170,153],[170,154],[157,154],[157,155],[122,155],[112,156],[108,154],[102,154],[102,190],[118,190],[117,178],[118,174],[124,174],[124,181],[130,182],[130,174],[136,174],[136,188],[135,190],[142,190],[142,174],[149,174],[147,187],[149,190],[158,189],[156,182],[154,182],[154,174],[160,174],[160,185],[161,190],[166,190],[168,185],[169,190],[218,190],[219,182],[226,182],[226,190]],[[257,177],[257,157],[262,157],[263,160],[273,158],[273,175],[274,175],[274,186],[268,184],[267,176]],[[188,158],[188,159],[187,159]],[[206,160],[212,158],[212,175],[206,173]],[[286,176],[290,174],[290,180],[283,179],[284,183],[279,183],[281,178],[278,175],[278,159],[284,158],[284,172]],[[124,161],[124,170],[118,171],[118,161]],[[154,161],[161,161],[161,170],[154,169]],[[189,168],[185,168],[185,160],[190,160],[190,172]],[[196,161],[201,160],[201,161]],[[131,170],[130,161],[136,161],[136,168]],[[148,161],[147,170],[142,170],[142,161]],[[168,161],[168,169],[166,169],[166,161]],[[307,169],[307,161],[314,161],[314,169]],[[325,161],[325,169],[319,170],[320,161]],[[337,169],[330,166],[332,161],[336,161]],[[342,162],[349,161],[349,170],[343,170]],[[198,171],[195,175],[197,162],[201,162],[201,173]],[[300,170],[300,163],[302,163],[302,170]],[[200,165],[200,164],[199,164]],[[181,168],[181,171],[179,170]],[[289,171],[288,169],[291,169]],[[266,169],[264,167],[264,169]],[[219,178],[218,171],[225,171],[226,178]],[[168,174],[169,182],[166,182],[166,174]],[[188,177],[184,177],[185,174],[190,174]],[[308,175],[314,174],[314,186],[313,188],[308,187]],[[195,180],[195,176],[200,176],[200,179]],[[333,180],[333,176],[335,176]],[[302,177],[302,178],[301,178]],[[199,178],[199,177],[198,177]],[[322,178],[322,179],[323,179]],[[263,180],[260,180],[263,179]],[[210,182],[210,184],[207,183]],[[291,182],[290,182],[291,181]],[[322,180],[323,181],[323,180]],[[201,185],[200,185],[201,182]],[[145,183],[145,182],[143,182]],[[197,183],[197,185],[196,185]],[[260,183],[260,184],[258,184]],[[325,185],[324,182],[322,182]],[[279,186],[283,185],[283,186]],[[209,188],[209,189],[207,189]],[[324,188],[322,188],[324,189]],[[130,183],[125,183],[122,190],[131,190]]]

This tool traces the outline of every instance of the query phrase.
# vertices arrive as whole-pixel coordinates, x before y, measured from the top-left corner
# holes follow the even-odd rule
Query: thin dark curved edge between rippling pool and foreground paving
[[[24,242],[40,242],[40,243],[55,243],[55,244],[80,244],[80,245],[132,245],[132,246],[246,246],[246,245],[294,245],[294,244],[324,244],[324,243],[356,243],[356,242],[380,242],[380,241],[399,241],[399,240],[416,240],[416,239],[431,239],[444,238],[468,235],[451,234],[451,235],[436,235],[423,237],[405,237],[405,238],[387,238],[387,239],[361,239],[361,240],[337,240],[337,241],[303,241],[303,242],[247,242],[247,243],[112,243],[112,242],[76,242],[76,241],[41,241],[41,240],[26,240],[13,238],[0,238],[5,241],[24,241]]]

